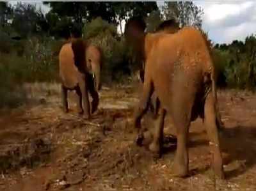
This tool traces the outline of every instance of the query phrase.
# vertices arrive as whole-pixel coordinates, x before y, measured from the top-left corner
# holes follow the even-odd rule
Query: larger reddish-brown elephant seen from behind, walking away
[[[193,27],[177,33],[145,33],[145,22],[129,19],[125,38],[145,62],[143,95],[134,113],[134,126],[141,134],[141,118],[148,111],[150,97],[155,91],[159,99],[160,116],[170,113],[177,128],[177,153],[173,164],[176,176],[188,174],[188,130],[198,116],[204,124],[213,153],[214,172],[224,178],[220,141],[216,127],[216,84],[214,65],[205,36]],[[159,125],[163,126],[163,125]],[[161,141],[159,130],[156,142]],[[154,137],[154,139],[155,139]]]

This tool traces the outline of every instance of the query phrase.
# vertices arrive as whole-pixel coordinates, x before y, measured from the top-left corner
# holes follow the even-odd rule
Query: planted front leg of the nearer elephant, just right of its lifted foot
[[[160,109],[159,116],[154,127],[153,141],[149,146],[150,151],[156,153],[159,157],[161,157],[163,149],[163,130],[165,114],[166,111],[164,109]]]

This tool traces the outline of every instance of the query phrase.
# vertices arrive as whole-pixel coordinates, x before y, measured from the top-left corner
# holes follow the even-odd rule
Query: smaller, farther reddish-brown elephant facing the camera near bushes
[[[88,93],[93,98],[92,113],[99,105],[97,91],[101,88],[102,51],[82,39],[72,39],[61,47],[59,64],[64,111],[68,112],[67,91],[75,90],[78,112],[84,114],[84,118],[90,118]]]

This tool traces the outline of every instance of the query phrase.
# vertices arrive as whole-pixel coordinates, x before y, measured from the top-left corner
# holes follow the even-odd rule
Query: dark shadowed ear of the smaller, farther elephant
[[[74,53],[74,63],[80,72],[86,72],[86,43],[83,39],[72,40],[71,48]]]

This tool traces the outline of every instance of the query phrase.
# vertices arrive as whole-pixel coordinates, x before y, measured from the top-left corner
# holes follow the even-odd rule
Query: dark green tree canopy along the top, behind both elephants
[[[77,26],[78,31],[82,31],[84,24],[97,17],[101,17],[109,23],[121,26],[122,20],[127,20],[131,16],[147,17],[152,10],[158,10],[156,2],[44,2],[49,4],[51,11],[48,19],[51,27],[56,29],[56,18],[62,20],[63,17],[70,18],[71,23],[66,23],[70,28]],[[56,15],[51,15],[56,14]],[[53,21],[52,21],[53,20]],[[66,19],[67,20],[67,19]],[[54,25],[52,25],[54,24]],[[121,26],[122,27],[122,26]],[[65,27],[66,28],[66,27]],[[122,31],[122,30],[121,30]]]

